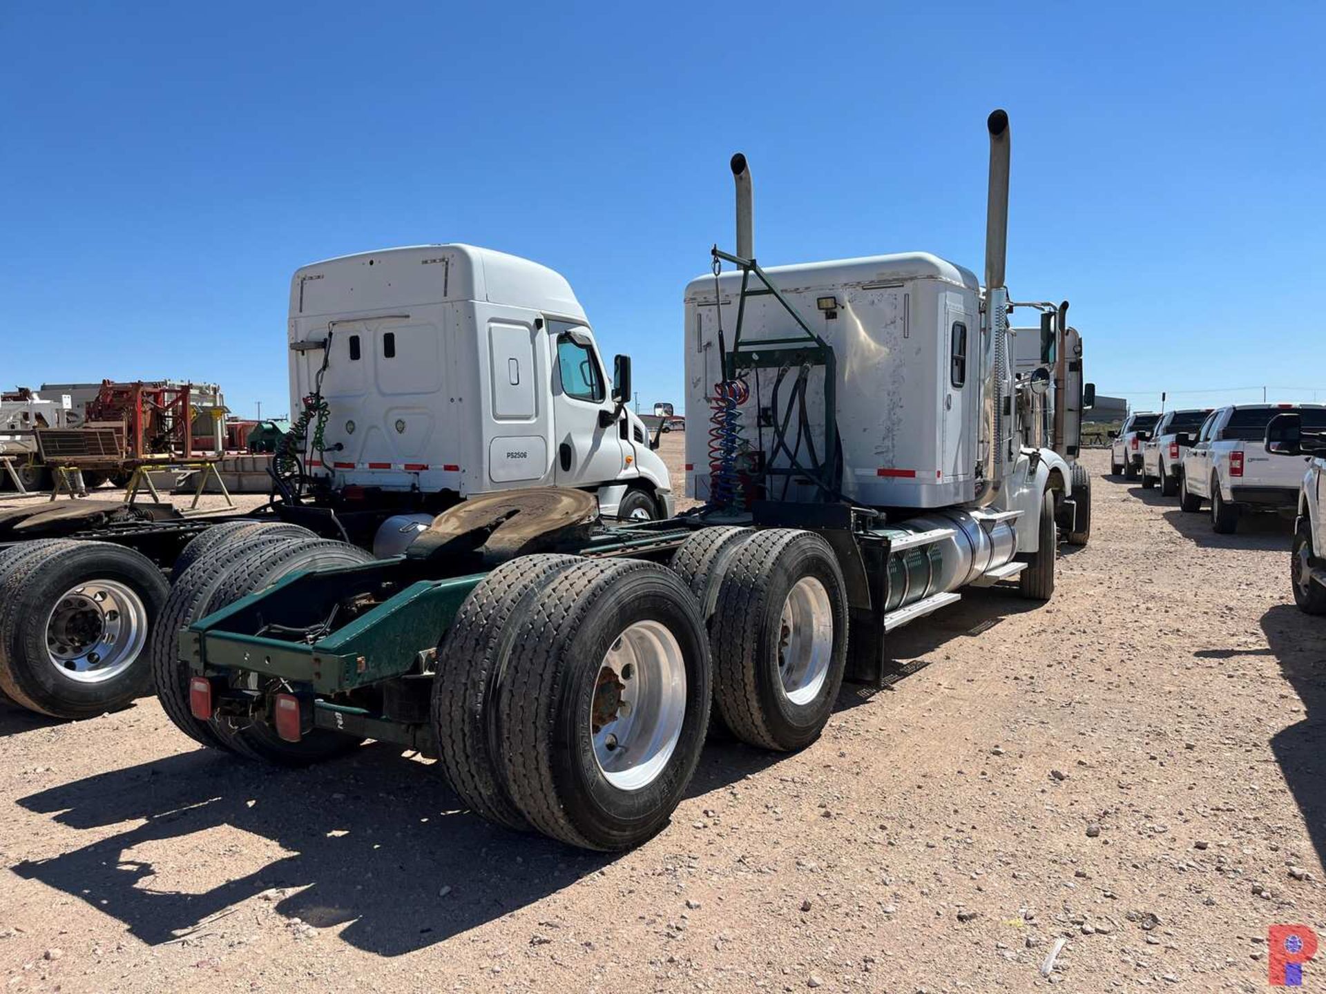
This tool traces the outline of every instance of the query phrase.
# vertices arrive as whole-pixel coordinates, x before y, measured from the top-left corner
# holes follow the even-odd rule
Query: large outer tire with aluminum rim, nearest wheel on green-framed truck
[[[695,771],[709,684],[704,623],[675,573],[599,559],[557,574],[517,622],[497,689],[512,801],[572,846],[643,843]]]

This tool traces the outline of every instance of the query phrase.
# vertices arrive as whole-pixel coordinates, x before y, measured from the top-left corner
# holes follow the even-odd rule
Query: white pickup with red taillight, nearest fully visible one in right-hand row
[[[1183,460],[1180,506],[1197,512],[1211,501],[1211,526],[1221,534],[1235,531],[1245,512],[1292,514],[1303,461],[1277,459],[1264,447],[1266,425],[1284,412],[1301,415],[1310,431],[1326,428],[1326,404],[1235,404],[1213,411]]]

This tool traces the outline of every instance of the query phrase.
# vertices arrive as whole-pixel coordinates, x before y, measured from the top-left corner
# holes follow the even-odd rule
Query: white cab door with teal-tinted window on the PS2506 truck
[[[615,404],[594,335],[581,322],[549,318],[546,325],[557,485],[586,488],[617,480],[634,470],[634,457],[626,463],[621,439],[626,412],[611,417]]]

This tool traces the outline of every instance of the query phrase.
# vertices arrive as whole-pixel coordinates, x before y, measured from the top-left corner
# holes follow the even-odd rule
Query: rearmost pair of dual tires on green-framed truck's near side
[[[712,679],[675,573],[514,559],[469,594],[438,667],[440,765],[477,814],[605,851],[667,824],[704,746]]]

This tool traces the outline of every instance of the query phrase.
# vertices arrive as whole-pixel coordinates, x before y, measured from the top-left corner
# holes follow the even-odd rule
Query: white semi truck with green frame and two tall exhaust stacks
[[[800,749],[845,679],[886,680],[892,628],[969,586],[1049,598],[1067,481],[1014,416],[1006,114],[988,130],[984,286],[919,252],[764,270],[733,158],[736,253],[687,288],[680,337],[704,508],[607,529],[583,490],[532,488],[265,590],[261,550],[199,563],[156,656],[172,721],[273,762],[420,749],[475,812],[622,850],[667,824],[711,705]]]

